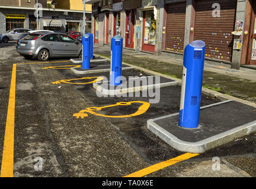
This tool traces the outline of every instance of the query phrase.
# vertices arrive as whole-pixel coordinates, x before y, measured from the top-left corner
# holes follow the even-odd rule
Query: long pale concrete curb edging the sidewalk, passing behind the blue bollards
[[[101,56],[99,54],[97,54],[97,56],[102,57],[102,58],[106,58],[107,60],[110,60],[110,58]],[[178,82],[179,85],[181,85],[181,82],[182,82],[181,79],[177,79],[177,78],[174,78],[174,77],[171,77],[171,76],[167,76],[165,74],[161,74],[161,73],[158,73],[156,71],[152,71],[152,70],[148,70],[148,69],[143,69],[142,67],[134,66],[134,65],[129,64],[129,63],[123,62],[123,64],[126,64],[127,66],[132,66],[134,69],[141,70],[141,71],[143,71],[145,73],[148,73],[148,74],[154,74],[156,76],[162,76],[162,77],[165,77],[167,79],[175,80],[175,81]],[[204,87],[202,88],[202,93],[206,94],[207,96],[216,97],[216,99],[220,99],[220,100],[233,100],[233,101],[240,102],[240,103],[243,103],[243,104],[248,105],[248,106],[256,107],[256,103],[251,102],[249,100],[239,99],[238,97],[230,96],[228,94],[222,94],[222,93],[216,92],[215,90],[210,90],[210,89],[207,89],[207,88],[204,88]]]

